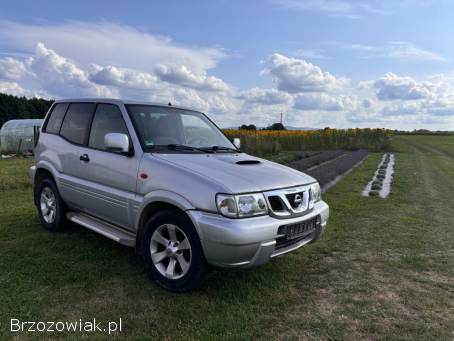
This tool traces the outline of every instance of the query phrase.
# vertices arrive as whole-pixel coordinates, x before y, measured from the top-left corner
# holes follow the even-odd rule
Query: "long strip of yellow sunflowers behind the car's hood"
[[[228,138],[239,137],[246,153],[265,156],[280,151],[389,148],[391,130],[331,129],[322,130],[234,130],[225,129]]]

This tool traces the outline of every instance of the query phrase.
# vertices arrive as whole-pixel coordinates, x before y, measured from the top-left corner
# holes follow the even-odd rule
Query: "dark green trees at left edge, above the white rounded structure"
[[[52,100],[17,97],[0,93],[0,127],[9,120],[44,118]]]

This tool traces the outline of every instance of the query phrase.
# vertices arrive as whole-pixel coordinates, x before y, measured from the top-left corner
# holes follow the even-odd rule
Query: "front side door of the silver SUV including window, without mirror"
[[[139,160],[133,149],[127,154],[107,150],[104,137],[108,133],[130,136],[120,108],[99,103],[87,146],[79,155],[81,185],[86,192],[83,208],[87,213],[132,229],[130,206],[136,191]]]

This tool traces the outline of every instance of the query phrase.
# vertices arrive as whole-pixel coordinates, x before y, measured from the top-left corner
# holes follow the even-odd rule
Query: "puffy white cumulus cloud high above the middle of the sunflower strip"
[[[346,83],[312,63],[279,53],[271,55],[268,64],[265,72],[273,77],[280,91],[288,93],[326,92]]]

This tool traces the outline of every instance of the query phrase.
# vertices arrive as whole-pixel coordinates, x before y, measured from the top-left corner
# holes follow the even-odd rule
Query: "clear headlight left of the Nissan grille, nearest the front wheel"
[[[219,213],[229,218],[252,217],[268,212],[265,197],[262,193],[218,194],[216,196],[216,206]]]

